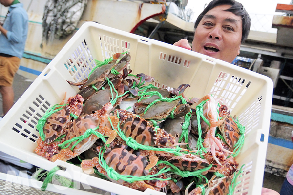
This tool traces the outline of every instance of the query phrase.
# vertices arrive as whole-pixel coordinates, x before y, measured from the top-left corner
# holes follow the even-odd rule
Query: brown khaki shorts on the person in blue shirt
[[[21,59],[18,57],[0,56],[0,86],[10,87],[13,77],[20,67]]]

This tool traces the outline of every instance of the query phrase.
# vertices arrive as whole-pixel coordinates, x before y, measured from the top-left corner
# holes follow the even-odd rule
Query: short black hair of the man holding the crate
[[[242,18],[242,37],[241,37],[241,42],[244,42],[245,39],[247,39],[249,30],[250,30],[250,25],[251,25],[251,19],[244,9],[243,5],[235,0],[213,0],[209,3],[209,5],[204,9],[204,11],[198,16],[198,18],[195,21],[194,28],[197,28],[199,22],[202,20],[202,18],[205,16],[205,14],[219,6],[219,5],[231,5],[229,9],[226,9],[225,11],[227,12],[232,12],[236,16],[241,16]]]

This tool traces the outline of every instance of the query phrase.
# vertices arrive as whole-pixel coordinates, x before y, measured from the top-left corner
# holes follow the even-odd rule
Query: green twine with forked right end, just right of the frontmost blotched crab
[[[174,174],[177,174],[179,176],[182,176],[182,177],[195,176],[198,178],[204,178],[207,183],[209,182],[205,176],[201,175],[201,173],[203,173],[204,171],[208,171],[212,167],[212,164],[210,164],[209,167],[206,167],[204,169],[199,169],[199,170],[190,172],[190,171],[181,171],[178,167],[176,167],[175,165],[173,165],[172,163],[168,161],[159,160],[157,162],[157,165],[161,163],[171,166],[172,169],[170,170],[170,172],[173,172]]]

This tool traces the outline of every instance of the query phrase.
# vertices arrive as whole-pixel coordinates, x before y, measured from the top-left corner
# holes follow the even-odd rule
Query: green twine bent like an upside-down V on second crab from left
[[[106,143],[106,139],[105,139],[106,136],[103,136],[100,132],[97,132],[96,130],[97,130],[98,128],[99,128],[99,126],[96,127],[96,128],[94,128],[94,129],[87,129],[87,130],[84,132],[84,135],[81,135],[81,136],[79,136],[79,137],[74,137],[74,138],[72,138],[72,139],[69,139],[69,140],[67,140],[67,141],[64,141],[62,144],[59,144],[58,146],[61,147],[61,148],[68,148],[69,145],[70,145],[72,142],[76,141],[76,143],[71,147],[71,150],[73,150],[74,147],[75,147],[77,144],[79,144],[82,140],[86,139],[87,137],[89,137],[89,136],[92,135],[92,134],[95,134],[97,137],[99,137],[100,139],[102,139],[102,141],[103,141],[104,143]],[[68,144],[68,145],[66,146],[66,144]]]

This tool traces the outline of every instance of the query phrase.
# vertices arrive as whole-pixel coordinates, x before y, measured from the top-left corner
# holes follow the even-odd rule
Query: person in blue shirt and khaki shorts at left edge
[[[14,104],[13,78],[20,66],[28,31],[28,15],[18,0],[0,0],[8,13],[0,25],[0,93],[3,116]]]

